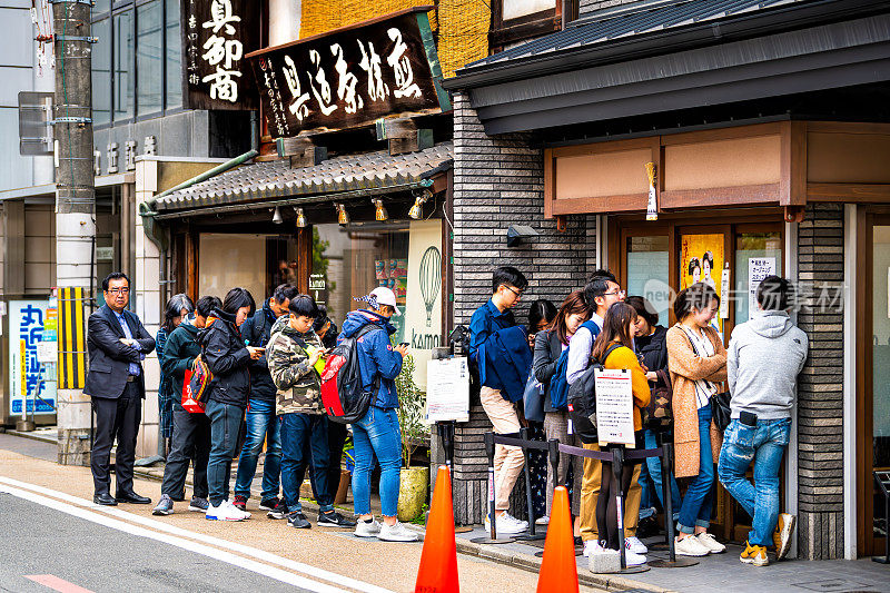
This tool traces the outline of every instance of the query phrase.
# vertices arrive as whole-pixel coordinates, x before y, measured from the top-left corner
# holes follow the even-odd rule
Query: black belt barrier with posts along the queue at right
[[[617,503],[617,522],[619,522],[619,541],[624,542],[624,492],[622,492],[622,474],[624,472],[625,462],[629,459],[645,459],[649,457],[661,457],[662,470],[662,496],[664,501],[664,526],[666,532],[666,543],[670,554],[670,560],[656,560],[647,564],[657,569],[679,569],[684,566],[693,566],[698,561],[692,559],[676,559],[674,550],[674,522],[673,522],[673,501],[671,493],[671,475],[673,472],[673,444],[662,443],[655,448],[647,449],[626,449],[624,445],[613,446],[610,451],[594,451],[589,448],[574,447],[571,445],[563,445],[555,438],[547,442],[530,441],[527,428],[522,428],[520,434],[511,433],[505,435],[495,434],[493,432],[485,433],[485,453],[488,457],[488,516],[491,525],[491,537],[476,537],[471,540],[474,543],[487,544],[505,544],[514,542],[515,540],[541,540],[542,535],[535,533],[535,516],[532,503],[532,488],[531,488],[531,471],[528,468],[528,449],[546,451],[553,475],[556,480],[553,481],[554,487],[558,485],[558,465],[560,454],[574,455],[575,457],[585,457],[589,459],[596,459],[600,462],[611,462],[612,472],[617,478],[617,495],[615,496]],[[659,439],[661,439],[659,435]],[[523,458],[525,461],[525,493],[526,502],[528,505],[528,534],[517,537],[497,537],[496,527],[496,510],[495,510],[495,485],[494,485],[494,453],[495,445],[506,445],[522,448]],[[621,569],[626,570],[626,559],[624,553],[624,545],[621,546]]]

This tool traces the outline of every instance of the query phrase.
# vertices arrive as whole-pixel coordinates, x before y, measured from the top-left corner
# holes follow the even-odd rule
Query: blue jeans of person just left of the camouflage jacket
[[[250,399],[247,409],[247,436],[238,457],[238,477],[235,480],[235,495],[250,497],[250,484],[257,473],[257,459],[266,442],[266,463],[263,467],[263,492],[260,500],[278,496],[278,480],[281,475],[281,435],[275,402]]]

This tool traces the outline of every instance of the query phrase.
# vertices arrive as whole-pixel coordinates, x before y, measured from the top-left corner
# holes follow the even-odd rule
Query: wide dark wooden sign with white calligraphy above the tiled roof
[[[372,123],[451,109],[433,33],[417,7],[249,53],[269,134]]]

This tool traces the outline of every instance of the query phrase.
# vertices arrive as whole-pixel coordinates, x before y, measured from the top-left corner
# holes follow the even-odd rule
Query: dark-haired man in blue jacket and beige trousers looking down
[[[493,335],[502,329],[516,325],[511,310],[522,297],[523,290],[528,286],[525,276],[514,267],[504,266],[494,270],[492,275],[492,298],[476,309],[469,319],[469,356],[477,364],[484,365],[479,359],[479,347],[490,343]],[[527,372],[527,369],[526,369]],[[515,405],[501,393],[500,385],[483,383],[479,398],[488,419],[497,434],[513,434],[520,432],[520,417]],[[516,478],[520,477],[523,466],[523,455],[520,447],[496,445],[494,454],[495,481],[495,527],[497,533],[505,535],[517,534],[528,527],[528,522],[513,517],[510,510],[510,493],[513,491]],[[492,517],[485,517],[485,528],[491,528]]]

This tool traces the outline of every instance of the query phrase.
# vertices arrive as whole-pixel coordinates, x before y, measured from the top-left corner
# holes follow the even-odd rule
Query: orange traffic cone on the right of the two
[[[544,542],[544,560],[537,575],[537,593],[577,592],[575,566],[575,538],[572,535],[572,516],[568,513],[568,491],[556,486],[553,507]]]

